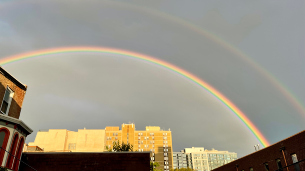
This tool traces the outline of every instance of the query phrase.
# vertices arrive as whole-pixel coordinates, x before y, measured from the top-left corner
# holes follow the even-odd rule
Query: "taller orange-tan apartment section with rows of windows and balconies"
[[[159,126],[146,126],[145,130],[136,130],[135,125],[122,124],[122,129],[107,126],[106,146],[112,147],[114,141],[130,143],[138,151],[150,151],[151,161],[158,162],[160,167],[169,171],[173,167],[172,132],[161,130]]]

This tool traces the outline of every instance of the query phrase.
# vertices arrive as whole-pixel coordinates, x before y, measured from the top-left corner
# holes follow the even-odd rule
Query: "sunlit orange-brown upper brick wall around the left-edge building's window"
[[[3,74],[0,74],[0,105],[2,104],[6,87],[9,87],[14,92],[8,116],[19,119],[23,99],[26,95],[26,91],[18,87],[11,80],[6,78]]]

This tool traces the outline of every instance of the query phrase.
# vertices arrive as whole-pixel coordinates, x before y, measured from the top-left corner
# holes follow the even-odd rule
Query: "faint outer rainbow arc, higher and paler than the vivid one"
[[[1,8],[7,9],[10,6],[14,6],[14,5],[21,4],[21,3],[27,3],[27,2],[36,3],[39,1],[38,0],[24,0],[24,1],[5,2],[5,3],[3,3],[4,5],[0,4],[0,9]],[[150,8],[140,6],[140,5],[128,4],[123,1],[120,1],[120,2],[119,1],[105,1],[105,2],[106,2],[105,4],[108,4],[108,5],[115,5],[118,7],[122,7],[123,9],[135,10],[135,11],[138,11],[138,12],[141,12],[144,14],[158,17],[163,20],[167,20],[169,22],[174,22],[176,24],[184,26],[184,27],[210,39],[211,41],[215,42],[222,48],[227,49],[231,53],[235,54],[236,57],[239,57],[240,59],[242,59],[245,62],[247,62],[248,64],[250,64],[258,73],[261,73],[266,78],[267,81],[271,82],[274,85],[274,87],[277,88],[278,91],[281,92],[287,98],[287,100],[299,111],[300,114],[302,114],[302,115],[305,114],[304,102],[302,102],[297,96],[295,96],[292,93],[293,91],[289,90],[288,87],[286,87],[282,82],[280,82],[280,80],[278,80],[272,73],[270,73],[268,70],[263,68],[263,66],[261,66],[259,63],[254,61],[249,55],[245,54],[243,51],[238,49],[236,46],[230,44],[225,39],[222,39],[221,37],[217,36],[216,34],[210,32],[204,28],[201,28],[195,24],[192,24],[182,18],[178,18],[174,15],[171,15],[171,14],[168,14],[168,13],[165,13],[162,11],[152,10]]]

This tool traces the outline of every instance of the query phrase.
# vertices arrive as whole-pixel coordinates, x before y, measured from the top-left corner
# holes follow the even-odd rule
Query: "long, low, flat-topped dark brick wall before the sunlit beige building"
[[[37,171],[150,171],[149,152],[23,153]],[[21,163],[19,171],[32,171]]]

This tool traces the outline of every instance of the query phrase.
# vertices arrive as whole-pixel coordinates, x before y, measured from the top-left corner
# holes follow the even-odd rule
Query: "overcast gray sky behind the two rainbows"
[[[170,62],[234,102],[270,143],[305,129],[305,114],[236,54],[160,12],[246,53],[305,101],[303,0],[0,0],[0,57],[65,46],[126,49]],[[145,12],[146,11],[146,12]],[[155,11],[155,12],[152,12]],[[61,54],[4,66],[29,86],[21,118],[33,130],[171,128],[173,147],[229,150],[258,141],[185,78],[118,55]]]

